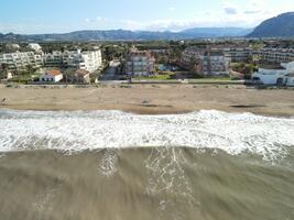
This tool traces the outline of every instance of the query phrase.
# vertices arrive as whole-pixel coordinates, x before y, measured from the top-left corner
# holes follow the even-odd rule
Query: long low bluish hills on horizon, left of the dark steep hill
[[[238,28],[196,28],[182,32],[152,32],[152,31],[76,31],[64,34],[1,34],[0,41],[140,41],[140,40],[189,40],[200,37],[236,37],[244,36],[252,30]]]

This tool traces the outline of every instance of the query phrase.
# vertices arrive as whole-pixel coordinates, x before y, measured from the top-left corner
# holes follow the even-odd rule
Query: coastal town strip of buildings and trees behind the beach
[[[294,86],[294,46],[280,40],[1,43],[4,84],[227,81]]]

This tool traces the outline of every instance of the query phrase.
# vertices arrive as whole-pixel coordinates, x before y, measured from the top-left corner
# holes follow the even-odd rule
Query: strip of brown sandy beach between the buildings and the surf
[[[294,116],[294,90],[218,85],[100,85],[87,88],[0,85],[0,108],[18,110],[122,110],[142,114],[195,110]]]

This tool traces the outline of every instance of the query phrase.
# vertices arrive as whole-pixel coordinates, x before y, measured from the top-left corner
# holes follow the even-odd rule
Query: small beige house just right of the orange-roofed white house
[[[90,84],[90,73],[85,69],[69,69],[65,73],[65,81],[68,84]]]

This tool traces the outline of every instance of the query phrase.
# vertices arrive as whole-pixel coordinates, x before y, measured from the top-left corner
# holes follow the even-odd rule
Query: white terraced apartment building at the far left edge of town
[[[43,55],[34,52],[0,54],[0,64],[7,64],[9,70],[25,70],[28,65],[40,68],[43,65]]]

